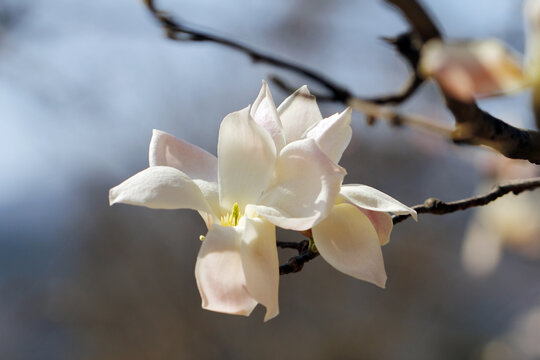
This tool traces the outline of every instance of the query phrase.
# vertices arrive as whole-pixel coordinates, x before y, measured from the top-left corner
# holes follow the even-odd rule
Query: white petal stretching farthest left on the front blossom
[[[152,209],[194,209],[212,213],[199,187],[183,172],[168,166],[152,166],[109,191],[117,203]]]

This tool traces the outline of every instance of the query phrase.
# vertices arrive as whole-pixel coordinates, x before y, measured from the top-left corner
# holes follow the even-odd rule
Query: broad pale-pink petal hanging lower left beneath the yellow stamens
[[[202,243],[195,278],[206,310],[248,316],[257,306],[246,287],[241,237],[241,228],[216,224]]]

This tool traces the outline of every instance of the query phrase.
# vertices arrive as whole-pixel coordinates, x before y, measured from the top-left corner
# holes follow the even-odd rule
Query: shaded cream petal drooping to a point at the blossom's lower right
[[[384,288],[386,272],[379,237],[371,221],[355,206],[334,206],[312,231],[319,253],[330,265]]]

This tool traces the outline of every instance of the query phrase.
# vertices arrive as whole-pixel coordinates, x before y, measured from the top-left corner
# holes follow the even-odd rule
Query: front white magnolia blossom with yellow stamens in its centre
[[[275,226],[318,224],[345,175],[315,139],[298,133],[311,110],[298,100],[278,116],[271,97],[259,97],[223,119],[217,158],[154,130],[150,167],[110,190],[111,205],[200,213],[208,227],[195,266],[203,308],[247,316],[260,303],[265,321],[279,313]]]

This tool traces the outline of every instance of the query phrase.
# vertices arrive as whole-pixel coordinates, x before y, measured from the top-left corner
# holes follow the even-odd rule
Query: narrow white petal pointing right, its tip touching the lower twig
[[[363,209],[391,212],[396,215],[409,214],[418,221],[418,215],[414,209],[371,186],[347,184],[341,187],[339,194],[351,204]]]

